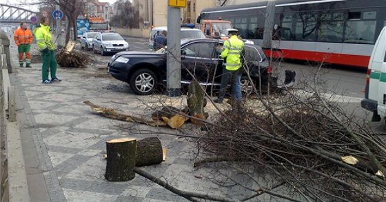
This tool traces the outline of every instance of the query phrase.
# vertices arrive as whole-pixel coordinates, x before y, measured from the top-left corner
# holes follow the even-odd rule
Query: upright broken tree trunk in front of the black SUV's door
[[[204,107],[207,101],[205,92],[197,81],[192,81],[187,87],[187,107],[189,115],[192,117],[190,121],[194,124],[201,125],[203,119],[207,119],[208,114],[205,113]]]

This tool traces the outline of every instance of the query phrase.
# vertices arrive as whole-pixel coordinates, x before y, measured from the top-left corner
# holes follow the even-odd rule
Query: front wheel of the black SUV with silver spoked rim
[[[136,70],[129,81],[130,88],[135,94],[152,94],[156,89],[156,74],[149,69]]]

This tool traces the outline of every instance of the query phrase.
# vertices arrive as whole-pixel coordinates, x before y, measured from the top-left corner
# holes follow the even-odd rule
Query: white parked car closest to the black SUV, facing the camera
[[[129,43],[117,33],[98,33],[92,39],[92,50],[101,55],[129,50]]]

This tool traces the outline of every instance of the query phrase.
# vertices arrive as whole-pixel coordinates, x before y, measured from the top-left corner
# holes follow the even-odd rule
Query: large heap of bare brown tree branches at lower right
[[[270,171],[287,191],[268,194],[287,200],[385,201],[385,141],[323,97],[318,77],[313,83],[310,90],[258,96],[261,108],[243,105],[207,123],[195,165],[230,161]]]

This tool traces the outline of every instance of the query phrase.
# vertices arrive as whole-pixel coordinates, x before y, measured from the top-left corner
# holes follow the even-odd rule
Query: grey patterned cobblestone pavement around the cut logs
[[[36,52],[35,46],[32,49]],[[17,61],[16,48],[11,47],[11,51]],[[167,150],[166,161],[143,170],[176,188],[219,196],[252,194],[235,186],[221,187],[203,177],[216,173],[209,167],[193,168],[194,144],[163,134],[177,133],[176,130],[112,121],[93,113],[83,101],[89,100],[130,114],[144,114],[144,103],[160,101],[156,97],[132,94],[126,83],[109,77],[105,63],[86,69],[59,68],[57,74],[63,81],[52,85],[41,84],[41,63],[32,66],[17,68],[17,76],[12,81],[19,92],[18,112],[23,116],[19,118],[21,130],[26,135],[25,139],[33,141],[30,148],[24,146],[24,153],[36,154],[39,159],[39,162],[29,162],[25,157],[27,169],[43,173],[50,196],[47,201],[186,201],[139,175],[127,182],[106,181],[105,141],[122,137],[159,137]],[[234,174],[234,177],[242,179],[239,174]],[[30,191],[37,190],[33,194],[45,191],[34,187],[34,179],[28,183]],[[257,188],[254,183],[249,185]],[[261,196],[259,199],[265,201],[270,197]]]

